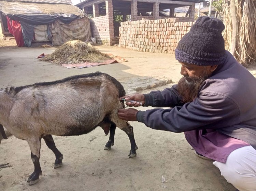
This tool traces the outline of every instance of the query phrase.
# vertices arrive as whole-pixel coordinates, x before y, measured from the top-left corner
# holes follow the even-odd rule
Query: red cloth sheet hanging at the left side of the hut
[[[24,46],[24,40],[22,36],[22,28],[19,21],[14,21],[6,16],[9,32],[14,36],[18,47]]]

